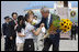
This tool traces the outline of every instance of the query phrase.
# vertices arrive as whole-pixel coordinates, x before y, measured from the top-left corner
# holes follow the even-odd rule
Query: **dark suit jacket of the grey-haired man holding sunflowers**
[[[50,20],[49,20],[49,27],[50,27],[50,23],[53,22],[53,18],[55,18],[54,17],[54,14],[50,14]],[[41,25],[41,23],[45,23],[45,29],[47,30],[48,28],[47,28],[47,22],[46,22],[46,19],[44,19],[43,17],[42,17],[42,21],[38,23],[38,24],[36,24],[35,27],[36,28],[40,28],[40,25]],[[59,32],[60,32],[61,30],[56,30],[56,32],[57,32],[57,34],[50,34],[49,35],[49,38],[53,40],[53,39],[56,39],[56,40],[59,40],[59,38],[60,38],[60,34],[59,34]]]

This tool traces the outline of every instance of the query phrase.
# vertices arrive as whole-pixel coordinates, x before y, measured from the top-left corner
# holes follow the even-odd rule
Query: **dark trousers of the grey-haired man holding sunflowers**
[[[53,51],[59,51],[59,41],[56,41],[55,39],[52,40],[50,38],[46,38],[44,41],[44,49],[43,51],[48,51],[49,46],[53,44]]]

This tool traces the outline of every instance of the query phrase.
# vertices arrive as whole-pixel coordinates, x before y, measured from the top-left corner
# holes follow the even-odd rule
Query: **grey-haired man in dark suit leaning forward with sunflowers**
[[[42,13],[42,21],[35,25],[36,28],[40,27],[41,23],[45,24],[45,29],[48,30],[50,27],[50,23],[53,22],[53,14],[49,13],[48,8],[44,7],[41,9],[41,13]],[[56,32],[53,32],[49,34],[49,38],[46,38],[44,40],[44,49],[43,51],[48,51],[50,44],[53,44],[53,51],[59,51],[59,34],[60,30],[57,30]]]

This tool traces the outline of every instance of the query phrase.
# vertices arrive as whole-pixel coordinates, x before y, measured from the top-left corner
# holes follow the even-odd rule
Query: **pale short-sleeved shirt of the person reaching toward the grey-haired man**
[[[34,39],[33,29],[34,27],[27,22],[25,27],[25,39]]]

